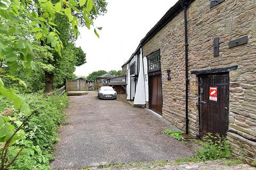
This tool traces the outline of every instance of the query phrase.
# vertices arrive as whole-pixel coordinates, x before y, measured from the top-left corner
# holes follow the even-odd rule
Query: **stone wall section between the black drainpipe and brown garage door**
[[[185,131],[185,48],[183,13],[179,13],[142,47],[143,56],[160,49],[163,117]],[[166,70],[171,70],[171,81]]]

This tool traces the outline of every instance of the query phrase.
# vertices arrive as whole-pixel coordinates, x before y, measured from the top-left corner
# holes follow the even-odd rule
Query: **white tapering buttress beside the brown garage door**
[[[141,53],[140,53],[141,54]],[[142,55],[140,55],[140,71],[138,77],[138,83],[136,87],[136,94],[134,98],[134,105],[145,105],[145,83],[144,83],[144,72],[143,72],[143,63],[142,63]]]

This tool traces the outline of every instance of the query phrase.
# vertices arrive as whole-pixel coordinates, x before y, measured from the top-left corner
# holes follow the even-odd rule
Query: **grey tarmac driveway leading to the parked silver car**
[[[117,100],[99,100],[97,92],[70,96],[68,124],[59,131],[52,169],[151,162],[193,156],[196,145],[179,142],[163,130],[160,118]]]

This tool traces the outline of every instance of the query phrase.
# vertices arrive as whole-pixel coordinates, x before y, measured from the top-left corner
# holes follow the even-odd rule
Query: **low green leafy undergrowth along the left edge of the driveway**
[[[25,97],[34,115],[23,129],[26,133],[25,138],[9,149],[8,156],[12,160],[20,148],[24,148],[9,169],[50,169],[53,144],[58,141],[57,130],[63,121],[63,109],[68,106],[67,96],[52,95],[42,99],[41,95],[30,94]],[[5,101],[1,96],[0,100]],[[1,103],[1,110],[4,107],[6,103]],[[8,107],[12,105],[9,103]],[[23,116],[19,112],[11,116],[15,120],[23,121]]]

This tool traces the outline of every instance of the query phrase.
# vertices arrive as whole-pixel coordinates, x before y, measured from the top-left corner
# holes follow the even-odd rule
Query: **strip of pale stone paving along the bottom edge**
[[[228,165],[228,163],[230,165]],[[115,165],[113,165],[115,166]],[[101,170],[117,170],[117,169],[131,169],[131,170],[139,170],[139,169],[166,169],[166,170],[255,170],[256,167],[252,167],[248,164],[237,164],[229,162],[227,159],[221,159],[221,160],[213,160],[208,162],[199,162],[199,163],[181,163],[181,164],[175,164],[175,162],[169,162],[169,163],[143,163],[139,164],[136,163],[134,165],[123,165],[119,167],[109,167],[109,168],[99,168],[99,167],[92,167],[87,169],[101,169]]]

